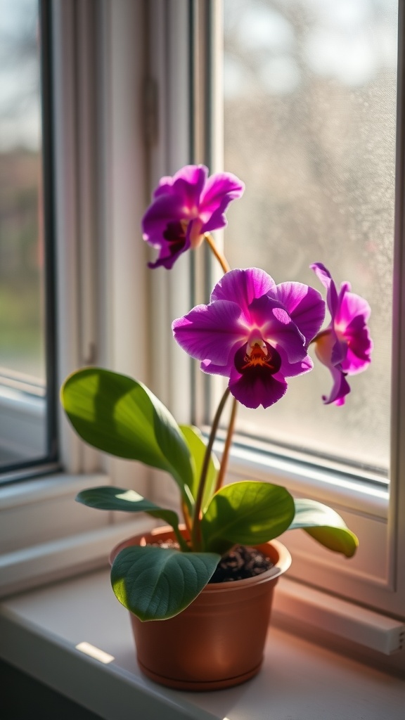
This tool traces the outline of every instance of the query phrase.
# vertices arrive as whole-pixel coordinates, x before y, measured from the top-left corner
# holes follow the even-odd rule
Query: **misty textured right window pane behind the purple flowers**
[[[239,428],[282,446],[388,469],[396,140],[394,0],[224,0],[225,169],[246,182],[228,212],[233,267],[276,282],[337,282],[368,299],[367,372],[344,407],[323,405],[329,372],[291,379]],[[313,354],[312,354],[313,356]]]

